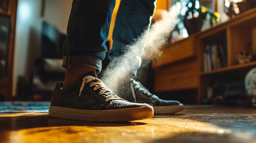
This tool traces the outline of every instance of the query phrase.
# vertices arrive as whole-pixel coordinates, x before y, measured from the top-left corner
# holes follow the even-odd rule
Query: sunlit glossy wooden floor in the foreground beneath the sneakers
[[[152,119],[95,123],[0,114],[0,143],[256,143],[256,108],[185,106]]]

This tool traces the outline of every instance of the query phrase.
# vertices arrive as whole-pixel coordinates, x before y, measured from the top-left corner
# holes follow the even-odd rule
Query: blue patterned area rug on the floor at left
[[[49,101],[4,101],[0,113],[48,112]]]

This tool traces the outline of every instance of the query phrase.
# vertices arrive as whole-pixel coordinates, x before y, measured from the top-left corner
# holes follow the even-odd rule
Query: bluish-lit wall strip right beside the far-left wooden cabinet
[[[13,95],[19,76],[28,80],[40,43],[40,0],[18,0],[13,64]]]

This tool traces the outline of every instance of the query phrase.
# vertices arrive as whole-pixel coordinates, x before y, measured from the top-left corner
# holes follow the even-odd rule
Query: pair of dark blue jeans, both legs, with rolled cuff
[[[125,51],[151,23],[156,0],[121,0],[113,33],[110,61]],[[63,67],[84,64],[101,72],[108,51],[108,38],[115,0],[73,0],[67,40],[63,46]],[[139,47],[143,48],[143,47]],[[141,55],[141,53],[138,53]],[[137,55],[135,55],[136,57]]]

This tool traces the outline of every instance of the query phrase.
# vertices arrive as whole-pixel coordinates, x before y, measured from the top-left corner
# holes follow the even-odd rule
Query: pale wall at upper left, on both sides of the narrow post
[[[42,21],[56,26],[66,33],[72,0],[45,0],[44,15],[41,16],[42,0],[18,0],[15,52],[13,65],[13,91],[16,95],[18,77],[27,83],[34,60],[39,55]]]

